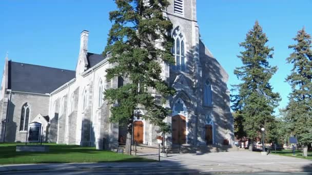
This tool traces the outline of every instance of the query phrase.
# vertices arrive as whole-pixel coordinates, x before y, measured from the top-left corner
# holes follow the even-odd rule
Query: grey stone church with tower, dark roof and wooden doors
[[[200,39],[196,0],[170,0],[164,16],[172,21],[175,65],[162,63],[162,77],[177,93],[168,98],[172,132],[166,145],[233,144],[228,74]],[[103,91],[123,85],[106,81],[109,55],[88,52],[89,32],[80,35],[76,70],[5,59],[0,101],[0,142],[25,142],[28,124],[43,125],[43,141],[112,149],[125,141],[125,127],[109,122]],[[144,115],[138,108],[136,113]],[[134,119],[135,142],[157,145],[158,127]]]

